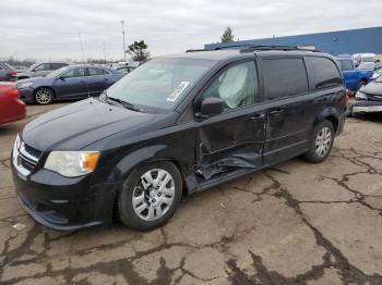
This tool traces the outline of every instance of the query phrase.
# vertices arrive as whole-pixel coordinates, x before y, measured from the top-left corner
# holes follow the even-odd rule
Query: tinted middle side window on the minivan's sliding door
[[[308,92],[308,77],[302,59],[263,60],[267,100]]]

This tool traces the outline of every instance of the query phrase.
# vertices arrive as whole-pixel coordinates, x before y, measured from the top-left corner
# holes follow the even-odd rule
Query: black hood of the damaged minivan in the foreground
[[[24,127],[21,137],[40,151],[80,150],[121,131],[142,127],[157,116],[89,98],[39,116]]]

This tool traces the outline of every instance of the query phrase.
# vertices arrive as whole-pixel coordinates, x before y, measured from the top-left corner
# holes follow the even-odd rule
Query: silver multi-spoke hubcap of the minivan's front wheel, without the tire
[[[144,221],[160,219],[170,209],[175,197],[175,182],[165,170],[153,169],[144,173],[132,195],[135,214]]]

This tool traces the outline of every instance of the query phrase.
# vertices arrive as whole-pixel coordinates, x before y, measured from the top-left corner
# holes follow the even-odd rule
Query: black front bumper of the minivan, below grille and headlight
[[[68,178],[40,168],[28,173],[12,152],[17,199],[38,223],[59,231],[75,231],[112,220],[116,184],[94,183],[92,175]]]

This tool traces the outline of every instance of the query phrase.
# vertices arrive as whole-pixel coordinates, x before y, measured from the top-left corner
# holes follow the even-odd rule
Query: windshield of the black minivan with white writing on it
[[[140,109],[174,109],[215,61],[154,59],[114,84],[107,96]]]

